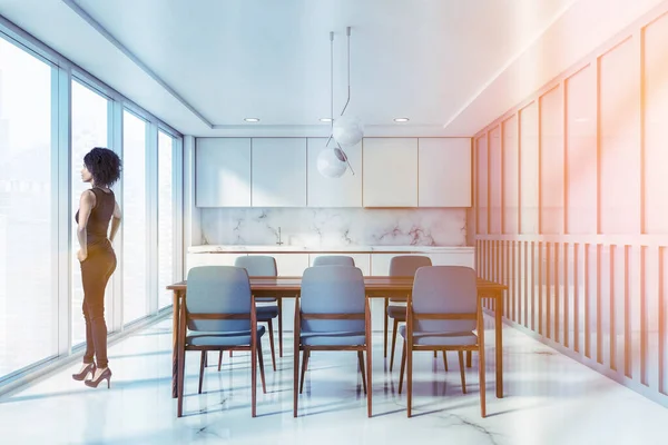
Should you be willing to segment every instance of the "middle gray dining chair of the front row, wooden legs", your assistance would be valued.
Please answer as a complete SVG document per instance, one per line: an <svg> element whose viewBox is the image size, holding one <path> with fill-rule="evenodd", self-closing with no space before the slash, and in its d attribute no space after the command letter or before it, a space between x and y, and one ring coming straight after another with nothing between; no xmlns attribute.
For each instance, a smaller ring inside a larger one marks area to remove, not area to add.
<svg viewBox="0 0 668 445"><path fill-rule="evenodd" d="M301 297L295 304L294 417L297 417L297 389L302 393L304 388L308 357L315 350L357 352L362 386L366 394L366 414L371 417L371 312L364 291L364 277L357 267L310 267L304 270ZM297 388L299 353L303 362Z"/></svg>

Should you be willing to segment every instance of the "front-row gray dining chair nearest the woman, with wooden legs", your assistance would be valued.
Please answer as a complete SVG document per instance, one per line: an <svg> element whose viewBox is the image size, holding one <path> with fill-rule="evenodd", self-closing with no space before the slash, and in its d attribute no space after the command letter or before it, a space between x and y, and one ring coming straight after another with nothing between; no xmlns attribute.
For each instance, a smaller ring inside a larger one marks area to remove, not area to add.
<svg viewBox="0 0 668 445"><path fill-rule="evenodd" d="M180 306L177 335L177 416L184 406L186 352L202 352L199 364L199 394L209 350L250 352L250 413L256 415L257 360L262 389L266 393L262 336L264 326L257 326L255 305L248 274L240 267L200 266L188 271L188 295Z"/></svg>

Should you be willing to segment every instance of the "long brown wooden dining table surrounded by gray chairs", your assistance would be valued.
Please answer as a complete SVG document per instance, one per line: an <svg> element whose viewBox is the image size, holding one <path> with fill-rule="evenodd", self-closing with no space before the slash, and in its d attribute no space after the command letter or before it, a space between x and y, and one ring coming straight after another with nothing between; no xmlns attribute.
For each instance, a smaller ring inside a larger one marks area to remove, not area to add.
<svg viewBox="0 0 668 445"><path fill-rule="evenodd" d="M254 297L298 298L302 289L302 277L249 277L250 293ZM491 315L494 317L494 348L497 373L497 397L503 397L503 338L502 314L503 291L508 287L503 284L478 278L478 310L485 309L484 301L492 300ZM406 297L413 290L413 277L365 276L364 288L367 298ZM177 326L179 322L180 305L187 298L187 280L167 286L174 294L173 306L173 352L171 352L171 397L177 396L178 383L178 354L177 354Z"/></svg>

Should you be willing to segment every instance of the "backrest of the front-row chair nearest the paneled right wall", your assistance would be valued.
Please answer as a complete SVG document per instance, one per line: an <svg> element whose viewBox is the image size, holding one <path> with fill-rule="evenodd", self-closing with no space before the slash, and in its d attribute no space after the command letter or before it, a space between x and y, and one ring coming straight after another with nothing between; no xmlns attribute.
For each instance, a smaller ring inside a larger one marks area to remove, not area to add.
<svg viewBox="0 0 668 445"><path fill-rule="evenodd" d="M421 267L415 273L411 297L413 314L475 314L475 270L464 266ZM475 319L418 319L414 332L455 333L475 329Z"/></svg>

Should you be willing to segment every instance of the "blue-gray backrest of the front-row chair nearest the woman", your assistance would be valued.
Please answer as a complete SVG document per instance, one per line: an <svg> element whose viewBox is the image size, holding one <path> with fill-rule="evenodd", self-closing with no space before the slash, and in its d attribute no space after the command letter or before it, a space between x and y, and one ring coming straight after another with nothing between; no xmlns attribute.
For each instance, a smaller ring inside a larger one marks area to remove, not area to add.
<svg viewBox="0 0 668 445"><path fill-rule="evenodd" d="M246 269L234 266L199 266L188 271L186 319L190 330L235 332L250 329L250 281ZM247 319L191 319L189 315L239 314Z"/></svg>

